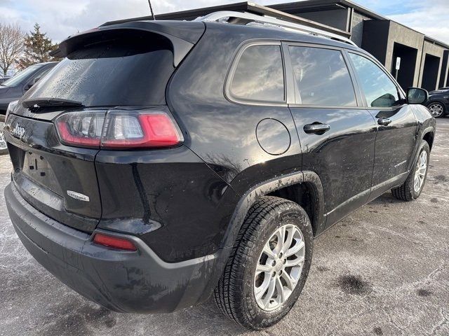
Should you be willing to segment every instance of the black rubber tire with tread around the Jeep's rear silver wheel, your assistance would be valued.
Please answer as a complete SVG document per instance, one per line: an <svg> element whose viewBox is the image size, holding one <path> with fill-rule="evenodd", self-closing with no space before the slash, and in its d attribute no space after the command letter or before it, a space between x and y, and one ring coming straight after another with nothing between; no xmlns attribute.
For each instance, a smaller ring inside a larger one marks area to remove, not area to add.
<svg viewBox="0 0 449 336"><path fill-rule="evenodd" d="M259 307L254 294L255 267L264 244L281 226L293 224L304 237L300 278L283 304L271 311ZM299 297L311 265L313 232L309 216L298 204L279 197L261 197L250 208L236 239L225 272L215 288L215 302L229 318L245 328L260 330L278 323Z"/></svg>

